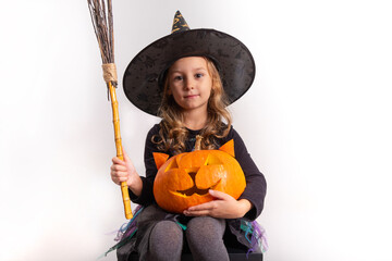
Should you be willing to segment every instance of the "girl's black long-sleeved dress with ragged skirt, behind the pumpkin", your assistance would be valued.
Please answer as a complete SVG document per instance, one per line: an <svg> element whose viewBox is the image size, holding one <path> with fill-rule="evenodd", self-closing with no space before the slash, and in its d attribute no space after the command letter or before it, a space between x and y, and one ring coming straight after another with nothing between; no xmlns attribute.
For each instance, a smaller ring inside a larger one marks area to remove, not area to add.
<svg viewBox="0 0 392 261"><path fill-rule="evenodd" d="M162 151L160 151L157 148L157 145L151 141L151 138L155 135L158 135L159 129L160 129L159 124L154 125L154 127L148 132L146 138L146 146L145 146L146 176L145 177L142 176L142 181L143 181L142 194L139 197L137 197L130 190L131 200L134 203L143 206L145 208L150 204L156 206L156 201L152 192L152 186L158 170L155 164L152 152L162 152ZM188 129L188 138L185 142L186 151L193 150L195 146L196 135L198 135L199 133L200 130ZM260 251L260 249L257 246L253 245L252 240L249 240L249 235L247 235L247 232L249 229L254 231L255 227L252 226L254 226L255 222L253 221L255 221L262 211L267 184L265 176L261 174L261 172L256 166L255 162L252 160L250 154L248 153L244 141L242 140L242 138L233 127L231 127L226 137L217 139L216 144L219 148L220 146L224 145L231 139L234 140L235 159L238 161L241 167L243 169L246 179L246 188L244 192L241 195L240 199L249 200L253 203L254 208L249 210L242 219L226 220L228 227L223 239L228 248L243 248L246 250L253 248L253 251L257 252ZM168 153L170 157L173 156L173 153L170 151L164 151L164 153ZM147 249L144 249L144 247L140 246L146 245L146 243L148 241L148 238L146 238L146 236L149 235L151 228L159 221L169 219L179 222L181 224L184 223L186 224L187 220L192 219L182 214L167 213L163 210L159 210L159 207L157 210L158 210L157 213L154 213L152 215L151 213L149 213L148 217L143 216L143 211L142 211L142 214L139 215L140 217L136 220L136 226L138 227L137 233L131 240L127 240L125 245L123 245L118 249L119 260L127 260L128 254L133 251L136 251L136 249L138 249L139 254L140 251L143 254L143 251L146 251Z"/></svg>

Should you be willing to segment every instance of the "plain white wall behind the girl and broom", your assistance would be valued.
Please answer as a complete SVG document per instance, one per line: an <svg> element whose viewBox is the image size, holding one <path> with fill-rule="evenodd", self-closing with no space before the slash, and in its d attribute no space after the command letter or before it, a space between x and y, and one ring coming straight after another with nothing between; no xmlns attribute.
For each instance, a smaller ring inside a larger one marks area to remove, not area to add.
<svg viewBox="0 0 392 261"><path fill-rule="evenodd" d="M111 109L86 1L2 1L0 260L95 260L125 219L109 177ZM253 51L234 126L268 181L269 261L392 260L392 35L388 0L114 1L119 77L146 45L191 27ZM118 89L140 173L158 120ZM115 260L111 253L106 260Z"/></svg>

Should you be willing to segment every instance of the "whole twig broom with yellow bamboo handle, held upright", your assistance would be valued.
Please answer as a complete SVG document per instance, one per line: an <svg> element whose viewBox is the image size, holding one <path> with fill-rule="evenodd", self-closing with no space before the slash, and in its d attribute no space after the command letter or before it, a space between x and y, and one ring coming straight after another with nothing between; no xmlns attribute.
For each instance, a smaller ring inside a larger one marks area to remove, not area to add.
<svg viewBox="0 0 392 261"><path fill-rule="evenodd" d="M107 4L105 4L105 0L87 0L94 30L97 36L99 50L102 58L103 79L107 83L110 94L113 112L117 157L121 160L124 160L124 157L122 154L122 144L120 135L119 103L115 96L115 87L118 85L118 79L114 64L112 5L111 0L107 0ZM126 182L121 183L121 192L124 203L125 217L130 220L132 219L133 214L131 210L131 200Z"/></svg>

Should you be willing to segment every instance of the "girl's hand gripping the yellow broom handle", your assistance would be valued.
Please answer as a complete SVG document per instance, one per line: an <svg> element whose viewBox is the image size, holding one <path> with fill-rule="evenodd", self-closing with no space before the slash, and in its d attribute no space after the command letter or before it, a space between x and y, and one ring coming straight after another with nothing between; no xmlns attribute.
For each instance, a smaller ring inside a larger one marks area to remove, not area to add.
<svg viewBox="0 0 392 261"><path fill-rule="evenodd" d="M124 160L120 160L118 157L112 159L113 164L110 166L110 175L112 181L120 185L122 182L126 182L130 189L139 196L143 188L143 183L139 175L136 172L134 164L130 157L123 150Z"/></svg>

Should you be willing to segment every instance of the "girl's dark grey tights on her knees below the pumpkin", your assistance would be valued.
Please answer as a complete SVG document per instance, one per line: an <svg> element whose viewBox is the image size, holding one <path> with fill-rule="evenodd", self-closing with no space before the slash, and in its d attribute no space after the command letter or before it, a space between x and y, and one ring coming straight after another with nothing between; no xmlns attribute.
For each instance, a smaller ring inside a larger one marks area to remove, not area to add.
<svg viewBox="0 0 392 261"><path fill-rule="evenodd" d="M194 260L229 260L223 244L225 220L210 216L192 219L185 231L186 241ZM172 221L161 221L149 237L147 260L180 261L183 248L183 231Z"/></svg>

